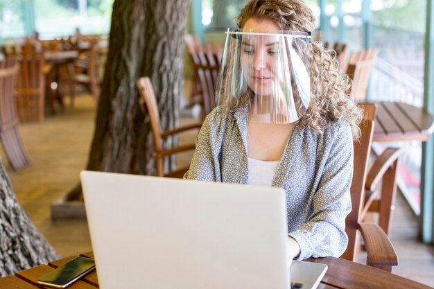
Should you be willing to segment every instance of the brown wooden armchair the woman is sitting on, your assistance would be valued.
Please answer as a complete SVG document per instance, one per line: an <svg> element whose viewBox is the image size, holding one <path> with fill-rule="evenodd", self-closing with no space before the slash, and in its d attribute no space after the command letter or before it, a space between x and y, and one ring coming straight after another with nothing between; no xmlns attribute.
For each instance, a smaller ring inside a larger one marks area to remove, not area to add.
<svg viewBox="0 0 434 289"><path fill-rule="evenodd" d="M360 238L362 237L367 252L367 265L391 272L392 266L398 264L398 257L388 236L376 223L362 220L367 163L374 132L376 107L374 104L361 104L361 107L365 112L365 117L360 125L361 139L354 142L354 173L350 189L352 210L345 222L345 231L349 241L347 250L341 258L358 261Z"/></svg>

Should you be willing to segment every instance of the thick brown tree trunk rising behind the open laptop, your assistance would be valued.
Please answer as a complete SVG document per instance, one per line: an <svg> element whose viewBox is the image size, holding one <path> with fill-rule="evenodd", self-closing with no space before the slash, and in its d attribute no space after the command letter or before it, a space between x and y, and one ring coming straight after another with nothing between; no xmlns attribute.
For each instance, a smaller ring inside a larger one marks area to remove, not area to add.
<svg viewBox="0 0 434 289"><path fill-rule="evenodd" d="M88 170L155 175L148 116L137 78L153 82L163 130L179 123L183 91L186 0L115 0ZM176 139L169 139L171 147ZM168 161L166 166L174 166Z"/></svg>

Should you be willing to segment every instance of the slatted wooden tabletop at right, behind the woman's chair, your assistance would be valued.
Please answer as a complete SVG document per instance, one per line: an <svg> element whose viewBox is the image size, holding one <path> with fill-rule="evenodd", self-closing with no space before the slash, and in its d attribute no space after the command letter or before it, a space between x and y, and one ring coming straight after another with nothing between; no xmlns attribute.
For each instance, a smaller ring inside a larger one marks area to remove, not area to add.
<svg viewBox="0 0 434 289"><path fill-rule="evenodd" d="M434 131L434 117L423 107L399 102L375 103L372 141L427 141Z"/></svg>

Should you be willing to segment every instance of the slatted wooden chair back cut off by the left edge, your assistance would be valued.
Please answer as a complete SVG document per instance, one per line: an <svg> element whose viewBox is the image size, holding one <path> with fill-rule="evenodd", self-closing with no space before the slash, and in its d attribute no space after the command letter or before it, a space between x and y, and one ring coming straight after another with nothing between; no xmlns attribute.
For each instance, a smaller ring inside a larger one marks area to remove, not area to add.
<svg viewBox="0 0 434 289"><path fill-rule="evenodd" d="M17 58L6 58L0 62L0 140L14 170L30 164L18 130L19 119L14 100L15 76L18 70Z"/></svg>

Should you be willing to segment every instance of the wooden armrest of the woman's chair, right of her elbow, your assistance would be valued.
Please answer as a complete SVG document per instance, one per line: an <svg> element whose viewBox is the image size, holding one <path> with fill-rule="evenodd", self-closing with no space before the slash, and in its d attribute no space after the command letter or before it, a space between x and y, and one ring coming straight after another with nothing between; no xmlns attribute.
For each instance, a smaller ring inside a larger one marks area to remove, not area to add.
<svg viewBox="0 0 434 289"><path fill-rule="evenodd" d="M373 222L361 222L358 229L365 242L366 265L392 272L392 266L398 265L398 256L383 229Z"/></svg>

